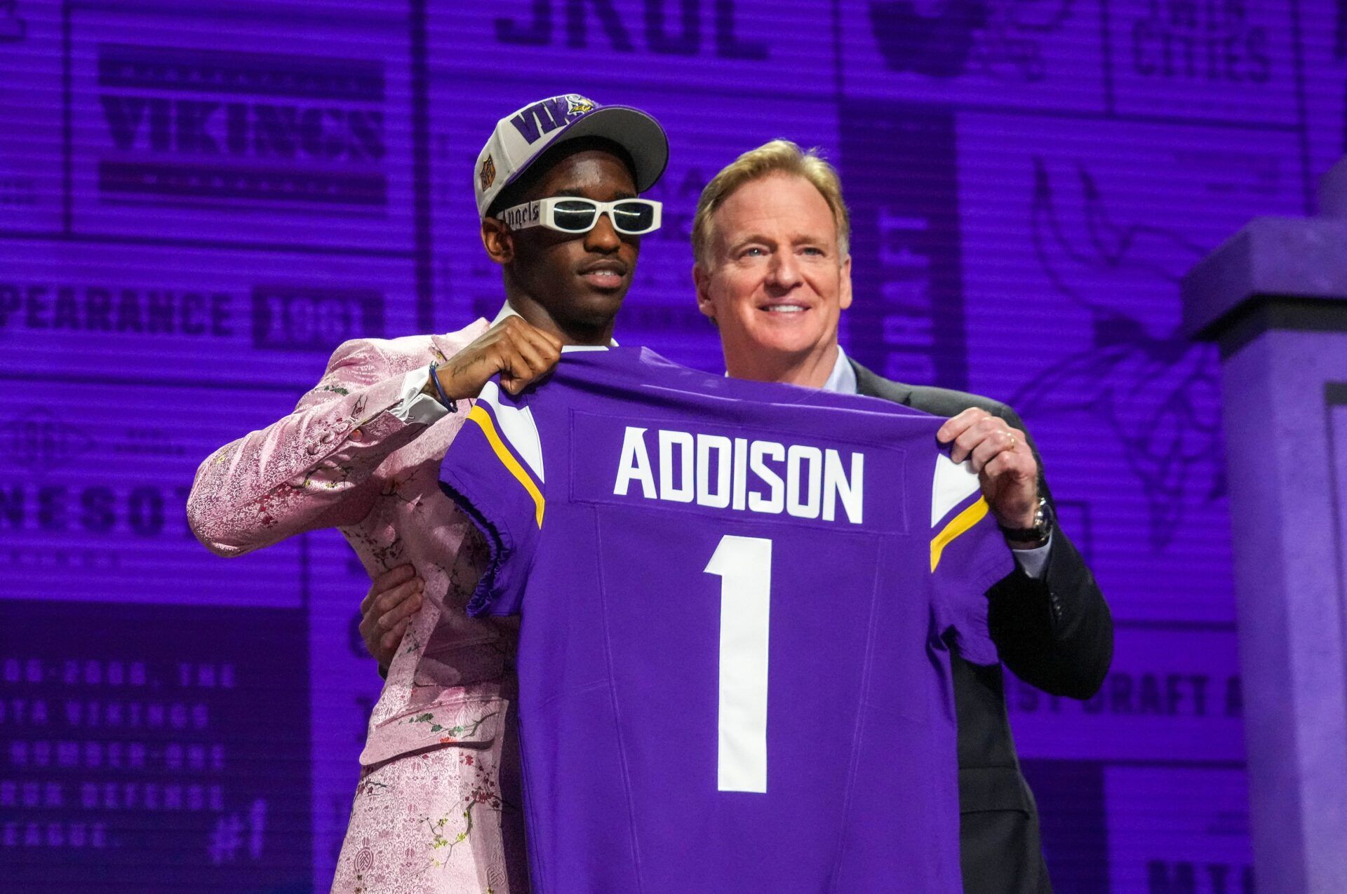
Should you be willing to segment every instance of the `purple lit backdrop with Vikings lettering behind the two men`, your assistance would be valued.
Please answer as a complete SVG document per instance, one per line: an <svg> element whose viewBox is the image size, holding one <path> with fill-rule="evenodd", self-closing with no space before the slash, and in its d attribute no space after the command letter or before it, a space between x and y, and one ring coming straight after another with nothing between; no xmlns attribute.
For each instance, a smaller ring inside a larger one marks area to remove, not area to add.
<svg viewBox="0 0 1347 894"><path fill-rule="evenodd" d="M692 366L702 184L776 136L838 162L845 343L1022 411L1118 619L1095 699L1008 691L1057 889L1251 890L1218 370L1177 279L1312 210L1340 0L0 0L5 878L326 890L368 582L331 532L225 564L183 497L342 339L494 314L471 162L564 92L669 131L618 338Z"/></svg>

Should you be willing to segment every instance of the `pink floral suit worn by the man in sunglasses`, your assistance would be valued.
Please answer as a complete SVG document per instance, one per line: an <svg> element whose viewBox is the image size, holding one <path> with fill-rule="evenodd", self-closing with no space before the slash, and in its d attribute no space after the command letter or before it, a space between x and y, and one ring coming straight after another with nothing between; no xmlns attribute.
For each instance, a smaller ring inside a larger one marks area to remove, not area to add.
<svg viewBox="0 0 1347 894"><path fill-rule="evenodd" d="M206 458L187 501L197 537L222 556L339 528L370 576L411 563L426 582L369 718L334 891L527 887L504 723L517 627L465 614L481 547L439 489L467 401L430 425L389 412L408 370L486 329L343 343L294 413Z"/></svg>

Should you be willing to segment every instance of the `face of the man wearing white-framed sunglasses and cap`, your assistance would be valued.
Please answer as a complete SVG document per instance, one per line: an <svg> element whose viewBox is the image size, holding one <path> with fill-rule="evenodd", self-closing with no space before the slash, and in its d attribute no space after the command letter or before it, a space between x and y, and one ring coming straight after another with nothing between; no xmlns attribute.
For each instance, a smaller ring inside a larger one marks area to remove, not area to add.
<svg viewBox="0 0 1347 894"><path fill-rule="evenodd" d="M581 148L550 164L519 201L566 195L599 202L636 198L636 183L614 152ZM603 214L581 234L541 226L511 232L486 218L482 241L505 268L505 292L524 319L570 343L607 343L613 318L632 287L638 236L618 233Z"/></svg>

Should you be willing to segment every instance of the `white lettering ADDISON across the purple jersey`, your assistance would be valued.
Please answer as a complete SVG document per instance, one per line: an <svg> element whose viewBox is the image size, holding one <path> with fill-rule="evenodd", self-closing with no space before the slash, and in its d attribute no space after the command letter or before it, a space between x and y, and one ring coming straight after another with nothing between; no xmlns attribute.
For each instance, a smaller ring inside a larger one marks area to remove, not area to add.
<svg viewBox="0 0 1347 894"><path fill-rule="evenodd" d="M865 454L628 425L613 494L859 525Z"/></svg>

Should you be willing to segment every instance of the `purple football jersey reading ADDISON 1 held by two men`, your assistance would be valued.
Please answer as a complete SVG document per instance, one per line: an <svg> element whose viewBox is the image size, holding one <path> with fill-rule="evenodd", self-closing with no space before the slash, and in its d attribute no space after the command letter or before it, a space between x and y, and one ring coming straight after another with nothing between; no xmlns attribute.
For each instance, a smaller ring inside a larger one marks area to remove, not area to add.
<svg viewBox="0 0 1347 894"><path fill-rule="evenodd" d="M940 423L644 349L488 385L440 477L523 615L535 891L960 890L950 649L1013 560Z"/></svg>

